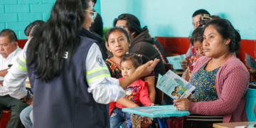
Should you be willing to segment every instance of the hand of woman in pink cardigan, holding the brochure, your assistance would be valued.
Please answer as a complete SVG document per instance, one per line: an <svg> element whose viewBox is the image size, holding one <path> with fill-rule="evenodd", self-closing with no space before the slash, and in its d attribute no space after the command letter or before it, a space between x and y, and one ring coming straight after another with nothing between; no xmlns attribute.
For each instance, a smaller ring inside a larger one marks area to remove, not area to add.
<svg viewBox="0 0 256 128"><path fill-rule="evenodd" d="M189 102L188 98L176 99L174 100L174 107L176 106L177 110L188 111Z"/></svg>

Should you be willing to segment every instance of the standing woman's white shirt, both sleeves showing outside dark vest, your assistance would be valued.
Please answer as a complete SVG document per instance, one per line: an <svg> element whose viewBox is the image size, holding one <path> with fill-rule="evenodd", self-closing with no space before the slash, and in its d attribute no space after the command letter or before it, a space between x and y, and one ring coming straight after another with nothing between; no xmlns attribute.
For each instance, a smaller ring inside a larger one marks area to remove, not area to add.
<svg viewBox="0 0 256 128"><path fill-rule="evenodd" d="M27 92L23 89L25 87L24 81L28 77L26 72L26 43L21 54L19 55L18 63L15 63L9 73L4 78L4 88L9 92L11 97L21 99L26 96ZM25 61L24 61L25 60ZM23 65L21 63L25 63ZM89 52L87 53L85 68L87 71L88 92L92 93L95 102L101 104L108 104L115 102L125 96L122 87L119 86L119 80L110 77L109 71L106 69L107 65L102 59L100 47L93 43ZM107 70L107 72L106 72Z"/></svg>

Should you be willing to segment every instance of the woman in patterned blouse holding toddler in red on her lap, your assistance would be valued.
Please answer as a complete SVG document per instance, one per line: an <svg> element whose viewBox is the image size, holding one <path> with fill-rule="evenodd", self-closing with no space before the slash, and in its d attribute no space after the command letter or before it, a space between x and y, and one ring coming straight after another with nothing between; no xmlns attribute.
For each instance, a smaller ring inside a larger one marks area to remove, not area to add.
<svg viewBox="0 0 256 128"><path fill-rule="evenodd" d="M113 57L105 60L107 67L110 70L110 75L112 78L122 78L122 68L120 66L121 59L123 55L129 52L129 36L127 31L124 28L114 27L110 28L106 32L106 41L107 41L107 49L112 52ZM142 58L142 63L146 63L149 61L149 58L146 58L144 55L139 55ZM149 100L154 103L155 98L155 89L154 89L154 72L142 78L142 80L149 83L148 85L148 93ZM117 103L123 105L124 107L139 107L134 102L128 100L126 97L123 97L117 100ZM110 103L110 115L112 110L114 109L115 102ZM151 124L151 120L148 118L149 122L142 122L143 125Z"/></svg>

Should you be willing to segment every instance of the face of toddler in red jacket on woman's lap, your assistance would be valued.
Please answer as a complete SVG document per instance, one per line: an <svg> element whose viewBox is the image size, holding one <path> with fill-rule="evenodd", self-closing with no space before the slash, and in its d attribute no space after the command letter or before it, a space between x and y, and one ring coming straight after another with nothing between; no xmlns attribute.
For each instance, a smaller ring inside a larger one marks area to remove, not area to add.
<svg viewBox="0 0 256 128"><path fill-rule="evenodd" d="M134 65L131 60L126 60L121 63L121 68L122 68L122 77L127 78L129 75L132 75L134 73Z"/></svg>

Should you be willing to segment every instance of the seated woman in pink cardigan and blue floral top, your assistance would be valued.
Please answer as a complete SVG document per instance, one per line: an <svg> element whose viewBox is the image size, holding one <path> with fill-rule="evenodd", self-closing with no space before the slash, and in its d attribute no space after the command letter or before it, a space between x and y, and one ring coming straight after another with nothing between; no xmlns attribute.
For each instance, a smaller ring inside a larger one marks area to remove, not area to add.
<svg viewBox="0 0 256 128"><path fill-rule="evenodd" d="M230 21L218 18L203 28L203 50L193 68L191 84L196 90L187 98L174 100L177 110L195 114L223 115L223 122L246 122L245 92L249 73L232 55L240 49L241 37Z"/></svg>

